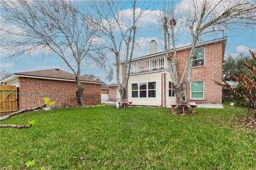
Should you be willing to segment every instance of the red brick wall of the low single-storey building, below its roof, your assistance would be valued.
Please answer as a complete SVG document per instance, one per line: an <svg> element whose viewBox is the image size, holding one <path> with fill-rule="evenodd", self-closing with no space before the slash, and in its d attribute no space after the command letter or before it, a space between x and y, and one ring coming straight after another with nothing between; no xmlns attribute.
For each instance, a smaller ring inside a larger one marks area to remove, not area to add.
<svg viewBox="0 0 256 170"><path fill-rule="evenodd" d="M101 98L101 85L92 83L84 84L84 104L99 104ZM67 95L76 96L76 84L70 81L19 78L20 93L30 94L52 94L52 95ZM50 97L52 101L56 101L55 106L65 106L70 104L77 106L77 98L61 97L61 96L39 96L41 104L43 97ZM37 95L20 95L20 109L28 107L36 107L39 105ZM53 105L54 106L54 105Z"/></svg>

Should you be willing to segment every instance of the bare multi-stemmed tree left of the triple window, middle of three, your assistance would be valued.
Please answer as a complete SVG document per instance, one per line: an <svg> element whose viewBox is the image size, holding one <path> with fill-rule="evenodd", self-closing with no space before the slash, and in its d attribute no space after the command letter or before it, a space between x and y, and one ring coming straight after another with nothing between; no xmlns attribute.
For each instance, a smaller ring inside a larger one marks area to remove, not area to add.
<svg viewBox="0 0 256 170"><path fill-rule="evenodd" d="M140 19L145 15L143 10L136 11L137 1L130 1L132 6L131 24L124 21L123 11L120 2L104 1L92 3L94 15L91 20L101 31L104 42L104 48L108 49L115 56L116 62L116 79L121 101L127 101L127 84L130 77L131 60L135 45L135 35L139 29ZM142 7L146 3L143 3ZM142 8L141 7L141 8ZM127 19L126 19L127 20ZM120 70L120 62L124 60L124 69ZM120 80L122 75L122 80Z"/></svg>

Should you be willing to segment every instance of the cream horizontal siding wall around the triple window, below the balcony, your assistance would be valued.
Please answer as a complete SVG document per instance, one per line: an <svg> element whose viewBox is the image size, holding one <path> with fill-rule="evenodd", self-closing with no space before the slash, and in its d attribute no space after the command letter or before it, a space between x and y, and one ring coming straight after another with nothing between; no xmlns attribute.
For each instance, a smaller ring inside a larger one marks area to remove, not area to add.
<svg viewBox="0 0 256 170"><path fill-rule="evenodd" d="M133 105L161 106L161 76L162 72L130 75L128 83L128 98ZM155 98L132 98L132 83L156 82Z"/></svg>

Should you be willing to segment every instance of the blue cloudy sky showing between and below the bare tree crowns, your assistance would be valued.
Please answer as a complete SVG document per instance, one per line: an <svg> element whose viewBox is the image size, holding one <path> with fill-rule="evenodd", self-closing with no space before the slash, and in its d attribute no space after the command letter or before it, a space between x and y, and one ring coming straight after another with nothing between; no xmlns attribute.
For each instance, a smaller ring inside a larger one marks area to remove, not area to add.
<svg viewBox="0 0 256 170"><path fill-rule="evenodd" d="M85 2L79 2L81 5L84 5ZM139 2L140 5L141 2ZM180 3L176 1L175 3ZM128 2L124 2L125 8L127 10L129 6ZM145 19L142 22L141 28L136 35L136 40L140 44L140 47L135 47L133 57L139 57L142 55L149 54L149 42L151 39L155 39L158 43L158 52L163 49L163 41L161 39L161 34L157 29L158 24L156 20L155 10L161 10L161 5L158 2L150 3L148 8L149 14L145 16ZM235 31L226 31L225 36L228 37L225 56L228 54L237 55L243 53L248 55L248 49L256 49L256 33L255 30L237 28ZM221 38L220 35L218 38ZM1 68L7 72L26 72L26 71L35 71L35 70L44 70L44 69L54 69L58 68L64 71L70 72L68 66L61 60L57 55L52 54L50 57L43 57L42 52L34 53L31 56L19 56L16 58L6 58L6 56L1 53ZM110 57L109 61L114 61L114 57ZM113 67L114 68L114 67ZM101 69L93 66L92 64L83 64L82 65L82 74L93 74L97 77L100 77L102 81L105 81L107 84L115 82L115 75L112 81L105 79L106 73Z"/></svg>

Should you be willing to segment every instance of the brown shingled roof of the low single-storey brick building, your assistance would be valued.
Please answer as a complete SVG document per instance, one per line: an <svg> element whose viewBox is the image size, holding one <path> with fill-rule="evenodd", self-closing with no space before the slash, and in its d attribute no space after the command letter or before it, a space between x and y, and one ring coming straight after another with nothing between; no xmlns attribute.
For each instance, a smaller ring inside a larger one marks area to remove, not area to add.
<svg viewBox="0 0 256 170"><path fill-rule="evenodd" d="M75 81L75 74L62 71L59 69L48 69L48 70L39 70L39 71L31 71L31 72L14 73L9 77L1 80L1 82L10 82L17 79L18 77ZM100 84L103 83L101 80L94 80L86 76L80 76L79 78L82 82L89 82L89 83L91 82L91 83L100 83Z"/></svg>

